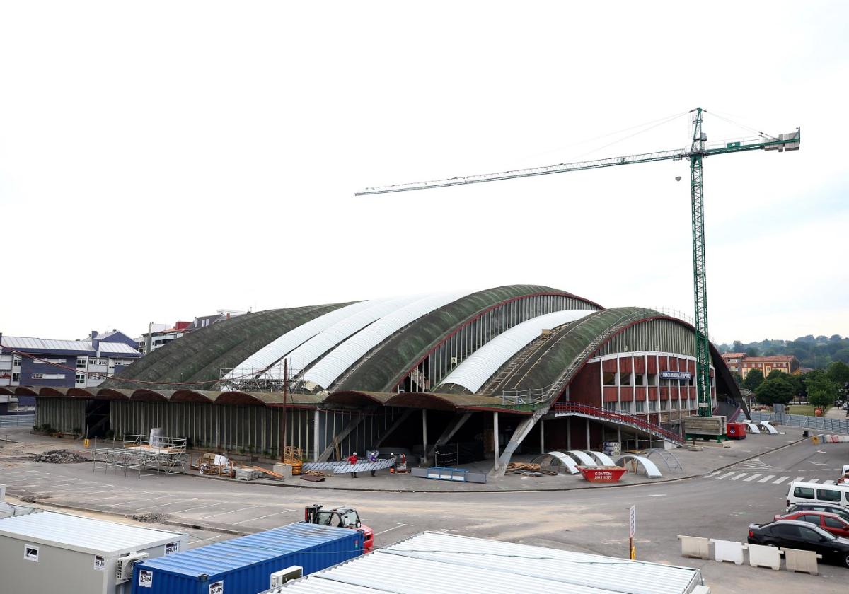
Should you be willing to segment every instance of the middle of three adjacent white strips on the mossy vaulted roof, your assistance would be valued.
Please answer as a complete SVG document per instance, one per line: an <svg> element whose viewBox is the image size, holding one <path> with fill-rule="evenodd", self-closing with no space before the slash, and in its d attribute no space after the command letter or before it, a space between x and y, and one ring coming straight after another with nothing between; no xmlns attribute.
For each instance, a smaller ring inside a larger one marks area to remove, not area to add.
<svg viewBox="0 0 849 594"><path fill-rule="evenodd" d="M295 377L295 375L301 373L304 369L312 365L312 363L318 361L324 353L335 347L335 345L339 345L343 340L359 332L368 326L368 324L419 299L421 299L421 295L408 295L396 299L369 301L368 303L372 304L370 307L357 311L352 316L336 322L329 328L325 328L313 336L312 339L307 340L303 345L291 351L286 356L289 359L290 376ZM283 373L283 366L275 365L266 373L263 373L261 377L266 379L283 379Z"/></svg>

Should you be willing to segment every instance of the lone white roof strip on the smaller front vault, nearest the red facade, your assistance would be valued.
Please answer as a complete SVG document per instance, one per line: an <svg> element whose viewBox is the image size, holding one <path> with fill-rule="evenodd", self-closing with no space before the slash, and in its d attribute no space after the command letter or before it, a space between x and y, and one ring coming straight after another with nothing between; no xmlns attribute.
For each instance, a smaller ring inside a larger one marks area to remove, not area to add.
<svg viewBox="0 0 849 594"><path fill-rule="evenodd" d="M454 368L453 372L440 382L440 385L458 384L475 393L481 389L483 384L486 384L486 380L492 378L498 372L498 369L504 363L524 349L531 340L539 338L543 330L575 322L575 320L579 320L589 313L592 313L592 311L554 311L517 324L513 328L498 334L486 345L481 346L480 349L466 357L462 363Z"/></svg>

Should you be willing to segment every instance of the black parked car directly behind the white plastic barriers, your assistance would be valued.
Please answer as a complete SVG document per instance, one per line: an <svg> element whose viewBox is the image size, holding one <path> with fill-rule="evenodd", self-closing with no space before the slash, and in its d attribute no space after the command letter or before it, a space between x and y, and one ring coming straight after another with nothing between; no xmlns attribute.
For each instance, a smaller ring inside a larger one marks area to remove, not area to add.
<svg viewBox="0 0 849 594"><path fill-rule="evenodd" d="M819 526L798 520L778 520L749 524L749 544L814 551L825 563L849 568L849 539L826 532Z"/></svg>

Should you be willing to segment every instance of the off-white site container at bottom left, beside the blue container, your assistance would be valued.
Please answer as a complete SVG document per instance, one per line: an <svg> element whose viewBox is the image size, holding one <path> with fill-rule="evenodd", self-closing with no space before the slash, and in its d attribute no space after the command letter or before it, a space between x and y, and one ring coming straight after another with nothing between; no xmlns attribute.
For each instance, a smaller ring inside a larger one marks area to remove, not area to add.
<svg viewBox="0 0 849 594"><path fill-rule="evenodd" d="M128 557L140 553L156 558L184 551L187 546L188 535L178 532L66 513L0 518L0 590L14 594L129 594L131 582L116 576L122 566L127 577L132 577Z"/></svg>

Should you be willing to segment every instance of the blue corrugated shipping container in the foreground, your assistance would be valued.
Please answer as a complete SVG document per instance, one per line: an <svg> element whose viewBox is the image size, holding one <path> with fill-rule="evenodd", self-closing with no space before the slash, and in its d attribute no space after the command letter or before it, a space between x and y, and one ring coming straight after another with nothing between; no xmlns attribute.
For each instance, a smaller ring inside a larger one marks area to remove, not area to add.
<svg viewBox="0 0 849 594"><path fill-rule="evenodd" d="M306 575L361 554L358 530L300 522L136 563L132 594L256 594L290 565Z"/></svg>

